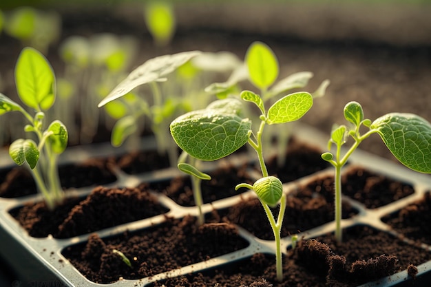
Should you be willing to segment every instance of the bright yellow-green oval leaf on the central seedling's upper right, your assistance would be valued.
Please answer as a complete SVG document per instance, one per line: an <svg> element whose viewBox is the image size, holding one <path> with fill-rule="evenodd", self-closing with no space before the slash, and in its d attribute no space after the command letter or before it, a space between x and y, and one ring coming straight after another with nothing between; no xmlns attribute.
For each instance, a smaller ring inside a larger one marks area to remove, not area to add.
<svg viewBox="0 0 431 287"><path fill-rule="evenodd" d="M307 92L289 94L277 100L268 110L269 125L288 123L302 118L313 106L313 96Z"/></svg>

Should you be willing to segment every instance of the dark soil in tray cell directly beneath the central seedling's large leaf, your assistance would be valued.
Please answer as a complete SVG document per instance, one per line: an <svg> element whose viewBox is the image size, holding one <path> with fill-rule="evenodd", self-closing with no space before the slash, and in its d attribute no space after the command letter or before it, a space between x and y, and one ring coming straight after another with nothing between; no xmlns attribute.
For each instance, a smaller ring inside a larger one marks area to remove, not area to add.
<svg viewBox="0 0 431 287"><path fill-rule="evenodd" d="M243 164L239 167L227 164L211 171L209 173L211 180L202 180L201 182L203 202L213 202L245 192L246 189L235 191L235 186L242 182L249 184L255 182L255 179L248 172L248 168L248 164ZM182 206L195 205L189 176L176 177L167 181L151 182L150 187L164 193L177 204Z"/></svg>

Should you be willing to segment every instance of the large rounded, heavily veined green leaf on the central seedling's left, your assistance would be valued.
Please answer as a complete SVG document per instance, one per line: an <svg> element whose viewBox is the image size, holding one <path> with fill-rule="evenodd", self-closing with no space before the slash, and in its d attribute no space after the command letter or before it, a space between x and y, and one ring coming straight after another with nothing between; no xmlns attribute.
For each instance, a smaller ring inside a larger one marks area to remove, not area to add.
<svg viewBox="0 0 431 287"><path fill-rule="evenodd" d="M171 125L171 135L177 145L200 160L224 158L249 139L251 121L239 116L239 100L217 100L198 111L184 114Z"/></svg>

